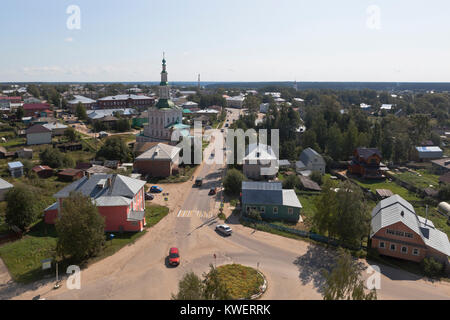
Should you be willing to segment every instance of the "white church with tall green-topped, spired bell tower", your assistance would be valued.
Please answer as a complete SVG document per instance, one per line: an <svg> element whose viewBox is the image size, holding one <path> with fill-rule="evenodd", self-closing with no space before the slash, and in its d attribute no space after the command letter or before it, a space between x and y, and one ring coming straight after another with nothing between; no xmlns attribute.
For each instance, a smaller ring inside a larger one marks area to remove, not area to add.
<svg viewBox="0 0 450 320"><path fill-rule="evenodd" d="M178 137L189 135L189 126L182 123L183 111L170 100L170 87L166 70L166 59L162 60L161 83L159 84L159 100L155 106L148 109L148 124L144 126L143 134L137 136L136 142L172 142L172 133Z"/></svg>

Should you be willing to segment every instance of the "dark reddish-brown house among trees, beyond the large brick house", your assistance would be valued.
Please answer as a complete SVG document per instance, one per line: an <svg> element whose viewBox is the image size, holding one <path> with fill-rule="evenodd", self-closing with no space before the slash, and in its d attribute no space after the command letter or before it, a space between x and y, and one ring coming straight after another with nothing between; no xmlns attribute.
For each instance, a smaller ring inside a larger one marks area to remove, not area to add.
<svg viewBox="0 0 450 320"><path fill-rule="evenodd" d="M383 178L381 152L375 148L357 148L348 165L348 172L367 179Z"/></svg>

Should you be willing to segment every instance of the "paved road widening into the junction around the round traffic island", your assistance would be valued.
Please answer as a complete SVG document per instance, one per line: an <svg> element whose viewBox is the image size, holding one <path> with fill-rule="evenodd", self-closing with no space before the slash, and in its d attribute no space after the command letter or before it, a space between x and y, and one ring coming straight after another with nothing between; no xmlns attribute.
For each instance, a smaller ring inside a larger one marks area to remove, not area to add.
<svg viewBox="0 0 450 320"><path fill-rule="evenodd" d="M206 151L207 153L209 151ZM40 294L47 299L170 299L177 291L179 279L189 271L200 275L211 263L241 263L266 275L269 287L263 299L321 299L324 283L322 268L330 268L334 251L304 241L269 233L255 232L231 217L231 237L214 231L218 221L217 201L208 196L210 186L220 184L221 165L203 164L199 176L205 177L202 188L186 184L181 210L174 210L134 245L90 266L82 272L82 289L58 291L51 285L17 288L0 298L31 299ZM219 195L220 196L220 195ZM186 212L190 214L186 215ZM166 262L170 247L180 248L182 263L170 268ZM214 260L213 255L217 259ZM407 272L382 267L382 299L449 299L450 284L431 283Z"/></svg>

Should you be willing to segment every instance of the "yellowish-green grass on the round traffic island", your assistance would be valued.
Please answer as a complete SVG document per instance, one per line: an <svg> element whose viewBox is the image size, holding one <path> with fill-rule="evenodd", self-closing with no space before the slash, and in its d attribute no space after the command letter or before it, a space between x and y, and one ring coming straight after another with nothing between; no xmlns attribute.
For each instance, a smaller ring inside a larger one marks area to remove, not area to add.
<svg viewBox="0 0 450 320"><path fill-rule="evenodd" d="M223 265L217 271L234 300L250 298L264 284L264 278L255 269L240 264Z"/></svg>

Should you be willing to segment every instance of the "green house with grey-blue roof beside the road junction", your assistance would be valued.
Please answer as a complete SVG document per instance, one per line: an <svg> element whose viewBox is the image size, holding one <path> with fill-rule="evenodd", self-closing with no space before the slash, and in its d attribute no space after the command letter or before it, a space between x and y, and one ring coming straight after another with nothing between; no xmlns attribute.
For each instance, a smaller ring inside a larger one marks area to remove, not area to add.
<svg viewBox="0 0 450 320"><path fill-rule="evenodd" d="M242 213L259 211L264 220L297 222L302 205L295 190L283 190L281 182L242 182Z"/></svg>

